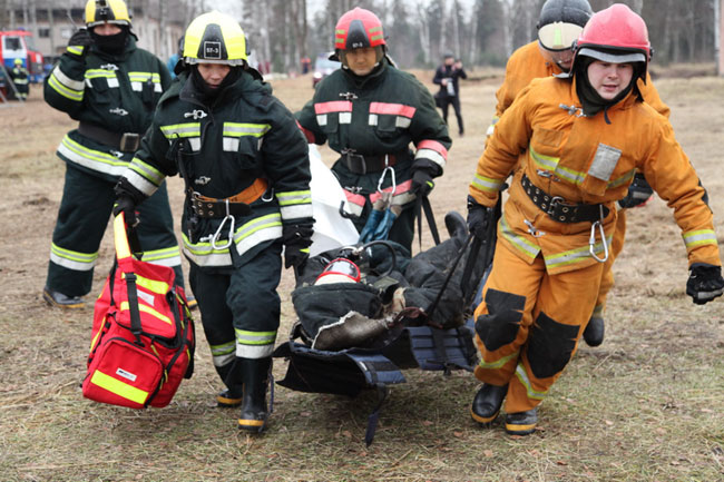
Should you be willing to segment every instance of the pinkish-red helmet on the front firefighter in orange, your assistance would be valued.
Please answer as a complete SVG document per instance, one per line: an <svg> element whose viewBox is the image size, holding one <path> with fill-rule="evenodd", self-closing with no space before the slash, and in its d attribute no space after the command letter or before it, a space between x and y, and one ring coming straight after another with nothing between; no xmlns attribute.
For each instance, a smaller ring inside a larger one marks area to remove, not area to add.
<svg viewBox="0 0 724 482"><path fill-rule="evenodd" d="M644 19L627 6L614 3L588 20L575 51L576 58L587 56L614 63L647 63L652 46Z"/></svg>

